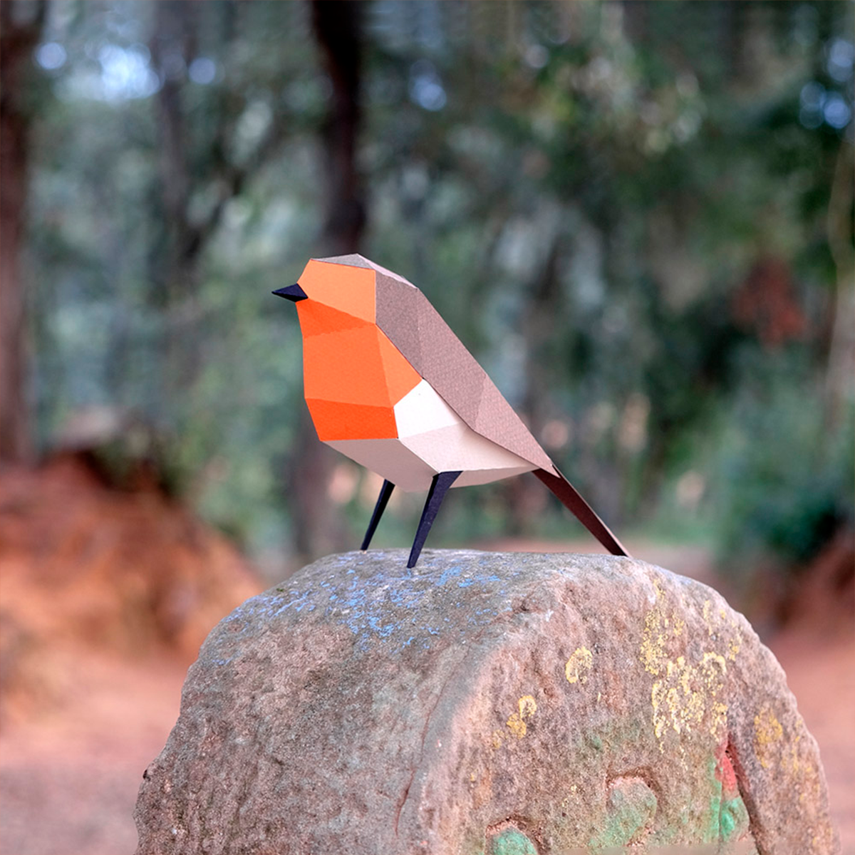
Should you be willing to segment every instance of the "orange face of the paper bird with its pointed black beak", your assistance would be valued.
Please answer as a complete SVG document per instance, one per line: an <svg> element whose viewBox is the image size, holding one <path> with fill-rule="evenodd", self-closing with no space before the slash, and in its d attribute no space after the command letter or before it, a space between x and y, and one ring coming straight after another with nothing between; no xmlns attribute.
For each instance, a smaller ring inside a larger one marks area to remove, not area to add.
<svg viewBox="0 0 855 855"><path fill-rule="evenodd" d="M313 258L294 285L274 291L297 304L304 336L374 323L374 269Z"/></svg>

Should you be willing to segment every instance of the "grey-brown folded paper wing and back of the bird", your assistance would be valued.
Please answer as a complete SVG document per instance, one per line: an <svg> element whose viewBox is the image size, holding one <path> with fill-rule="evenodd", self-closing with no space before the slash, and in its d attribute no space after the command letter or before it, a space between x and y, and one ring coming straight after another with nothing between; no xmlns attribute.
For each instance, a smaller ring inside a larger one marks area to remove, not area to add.
<svg viewBox="0 0 855 855"><path fill-rule="evenodd" d="M549 473L551 460L486 371L416 286L379 265L376 320L413 368L475 433Z"/></svg>

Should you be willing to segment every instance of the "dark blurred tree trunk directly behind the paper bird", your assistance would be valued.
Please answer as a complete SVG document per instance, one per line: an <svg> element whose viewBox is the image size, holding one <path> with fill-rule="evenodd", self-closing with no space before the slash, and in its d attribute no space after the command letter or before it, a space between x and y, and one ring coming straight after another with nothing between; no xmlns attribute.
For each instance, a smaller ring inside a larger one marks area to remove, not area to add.
<svg viewBox="0 0 855 855"><path fill-rule="evenodd" d="M356 162L361 119L361 17L361 3L353 0L312 2L315 38L333 85L329 113L321 129L326 167L324 225L318 241L321 257L358 251L365 228L363 186ZM335 453L318 441L309 413L303 408L286 473L294 545L301 561L348 545L344 522L329 499L335 459Z"/></svg>

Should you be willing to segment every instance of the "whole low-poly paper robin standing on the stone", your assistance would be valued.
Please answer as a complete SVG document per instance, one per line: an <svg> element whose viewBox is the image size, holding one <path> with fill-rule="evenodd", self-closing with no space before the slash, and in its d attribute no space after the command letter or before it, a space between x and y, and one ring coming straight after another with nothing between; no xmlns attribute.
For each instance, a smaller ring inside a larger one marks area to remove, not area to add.
<svg viewBox="0 0 855 855"><path fill-rule="evenodd" d="M363 550L396 486L428 492L412 568L450 487L534 472L607 550L628 554L416 286L350 255L312 259L274 294L297 304L318 438L385 479Z"/></svg>

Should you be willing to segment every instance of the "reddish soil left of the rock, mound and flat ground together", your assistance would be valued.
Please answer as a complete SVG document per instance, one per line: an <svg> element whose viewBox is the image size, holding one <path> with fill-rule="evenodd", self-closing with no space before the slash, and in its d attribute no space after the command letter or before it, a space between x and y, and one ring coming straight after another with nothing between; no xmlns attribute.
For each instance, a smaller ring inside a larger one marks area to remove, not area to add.
<svg viewBox="0 0 855 855"><path fill-rule="evenodd" d="M0 477L0 851L133 852L143 770L210 628L259 583L152 484L80 457Z"/></svg>

